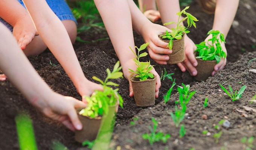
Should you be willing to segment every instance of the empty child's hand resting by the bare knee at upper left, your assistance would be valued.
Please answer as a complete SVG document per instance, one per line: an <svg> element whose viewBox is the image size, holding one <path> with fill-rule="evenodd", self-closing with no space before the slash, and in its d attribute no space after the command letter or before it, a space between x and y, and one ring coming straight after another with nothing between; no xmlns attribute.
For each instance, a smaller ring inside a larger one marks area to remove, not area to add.
<svg viewBox="0 0 256 150"><path fill-rule="evenodd" d="M12 34L18 41L18 45L22 50L26 48L26 46L34 39L35 36L38 35L37 30L34 27L34 24L29 17L29 15L25 15L14 24Z"/></svg>

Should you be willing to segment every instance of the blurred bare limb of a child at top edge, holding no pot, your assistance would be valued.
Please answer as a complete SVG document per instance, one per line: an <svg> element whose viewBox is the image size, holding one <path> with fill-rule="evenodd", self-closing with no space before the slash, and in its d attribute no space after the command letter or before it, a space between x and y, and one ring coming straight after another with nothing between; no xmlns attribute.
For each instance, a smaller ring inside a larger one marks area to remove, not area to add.
<svg viewBox="0 0 256 150"><path fill-rule="evenodd" d="M155 0L138 0L140 11L152 22L159 20L160 13L157 11Z"/></svg>

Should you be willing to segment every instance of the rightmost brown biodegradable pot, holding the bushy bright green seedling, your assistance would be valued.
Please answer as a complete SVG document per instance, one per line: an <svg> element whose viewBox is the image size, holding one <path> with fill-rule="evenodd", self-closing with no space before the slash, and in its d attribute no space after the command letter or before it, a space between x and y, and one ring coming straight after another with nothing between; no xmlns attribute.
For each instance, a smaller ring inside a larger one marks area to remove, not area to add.
<svg viewBox="0 0 256 150"><path fill-rule="evenodd" d="M197 75L194 77L197 81L206 81L214 70L216 65L216 60L202 60L196 58L198 65L195 67L197 69Z"/></svg>

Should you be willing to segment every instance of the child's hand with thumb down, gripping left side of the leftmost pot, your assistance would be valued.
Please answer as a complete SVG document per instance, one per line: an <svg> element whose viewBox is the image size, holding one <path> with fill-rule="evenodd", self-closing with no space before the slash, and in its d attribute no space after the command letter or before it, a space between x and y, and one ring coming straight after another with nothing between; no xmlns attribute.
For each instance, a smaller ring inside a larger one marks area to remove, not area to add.
<svg viewBox="0 0 256 150"><path fill-rule="evenodd" d="M72 131L82 129L82 124L78 119L75 109L85 108L86 105L83 102L55 92L47 93L46 95L46 99L32 99L32 105L37 107L47 117L60 121Z"/></svg>

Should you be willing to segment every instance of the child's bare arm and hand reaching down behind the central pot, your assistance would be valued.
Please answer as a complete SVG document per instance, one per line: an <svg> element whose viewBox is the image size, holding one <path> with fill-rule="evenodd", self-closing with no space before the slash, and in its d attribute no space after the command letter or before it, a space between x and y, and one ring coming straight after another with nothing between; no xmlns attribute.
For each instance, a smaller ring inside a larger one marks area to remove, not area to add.
<svg viewBox="0 0 256 150"><path fill-rule="evenodd" d="M123 66L124 77L130 83L130 96L133 96L133 90L129 78L130 73L128 68L136 70L136 65L133 62L133 58L135 58L135 56L133 52L129 49L129 46L131 46L131 48L135 50L129 4L127 0L94 0L94 2L99 10L99 13L101 14L102 20L108 31L108 35L110 36L117 57L119 58L120 63ZM158 92L161 84L160 77L157 72L155 72L155 70L153 70L152 73L154 75L157 75L155 96L158 97Z"/></svg>

